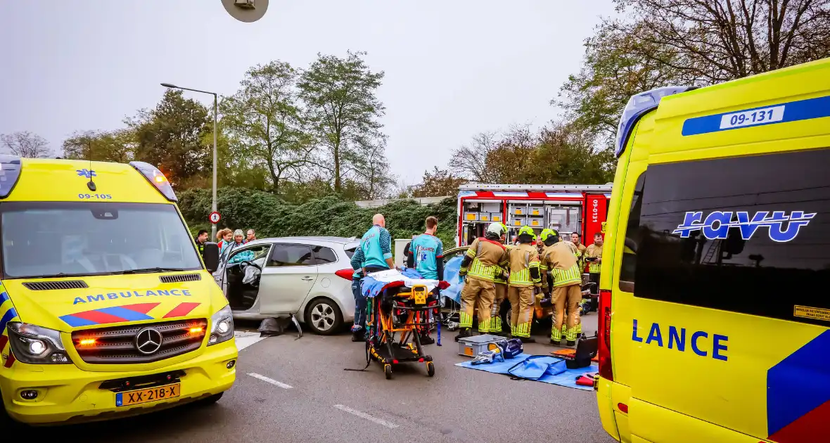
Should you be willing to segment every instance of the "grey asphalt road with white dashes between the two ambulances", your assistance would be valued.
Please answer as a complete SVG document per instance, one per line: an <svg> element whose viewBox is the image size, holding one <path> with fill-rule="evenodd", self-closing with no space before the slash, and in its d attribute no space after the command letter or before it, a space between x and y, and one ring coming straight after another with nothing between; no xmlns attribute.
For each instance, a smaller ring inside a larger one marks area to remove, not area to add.
<svg viewBox="0 0 830 443"><path fill-rule="evenodd" d="M583 317L596 329L596 314ZM248 325L250 326L250 325ZM253 335L253 334L250 334ZM435 377L422 364L399 365L393 380L348 334L295 333L255 341L239 356L237 382L217 404L78 426L36 428L61 441L613 441L603 431L593 391L458 368L454 333L428 346ZM540 336L540 341L544 336ZM242 343L246 340L237 341ZM547 340L544 340L545 342ZM529 344L528 353L549 353Z"/></svg>

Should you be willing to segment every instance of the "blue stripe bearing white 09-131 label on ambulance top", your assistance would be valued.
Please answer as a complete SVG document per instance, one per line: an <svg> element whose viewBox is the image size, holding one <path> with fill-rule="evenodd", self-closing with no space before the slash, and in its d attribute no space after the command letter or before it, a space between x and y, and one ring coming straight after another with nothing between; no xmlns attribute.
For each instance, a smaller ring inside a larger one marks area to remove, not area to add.
<svg viewBox="0 0 830 443"><path fill-rule="evenodd" d="M761 110L764 110L764 112L759 112ZM725 115L735 116L737 119L743 113L756 113L759 116L762 115L762 117L757 119L754 117L741 119L742 121L740 123L737 121L725 122L723 119ZM768 116L773 116L772 121L770 121ZM686 119L683 122L682 134L684 136L709 134L730 129L751 128L765 124L788 123L798 120L821 119L823 117L830 117L830 96Z"/></svg>

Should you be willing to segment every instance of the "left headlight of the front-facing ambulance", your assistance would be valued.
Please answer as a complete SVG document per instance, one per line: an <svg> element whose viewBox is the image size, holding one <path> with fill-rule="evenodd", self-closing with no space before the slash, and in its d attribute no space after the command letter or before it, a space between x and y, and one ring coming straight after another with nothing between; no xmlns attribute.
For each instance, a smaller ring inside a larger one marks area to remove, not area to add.
<svg viewBox="0 0 830 443"><path fill-rule="evenodd" d="M61 341L61 333L34 324L8 323L8 343L14 358L28 364L72 363Z"/></svg>

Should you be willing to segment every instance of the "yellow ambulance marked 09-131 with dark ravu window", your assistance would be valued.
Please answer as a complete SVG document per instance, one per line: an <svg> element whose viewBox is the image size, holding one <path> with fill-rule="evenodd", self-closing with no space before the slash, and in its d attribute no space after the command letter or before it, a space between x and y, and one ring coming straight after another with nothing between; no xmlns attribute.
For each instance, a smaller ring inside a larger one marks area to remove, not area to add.
<svg viewBox="0 0 830 443"><path fill-rule="evenodd" d="M618 441L830 441L830 59L635 95L599 299Z"/></svg>

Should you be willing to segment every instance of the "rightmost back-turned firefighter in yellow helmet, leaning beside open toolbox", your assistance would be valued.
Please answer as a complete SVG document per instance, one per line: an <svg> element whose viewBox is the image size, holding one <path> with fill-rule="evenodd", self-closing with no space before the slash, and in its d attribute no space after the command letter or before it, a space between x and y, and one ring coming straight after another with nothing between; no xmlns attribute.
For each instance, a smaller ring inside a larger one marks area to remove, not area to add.
<svg viewBox="0 0 830 443"><path fill-rule="evenodd" d="M558 236L548 236L548 241L558 240L550 237ZM559 345L564 333L568 346L574 346L577 335L582 332L582 324L579 321L582 272L577 263L578 254L574 253L573 243L570 241L555 241L545 252L544 265L553 277L554 286L554 327L550 331L550 343Z"/></svg>

